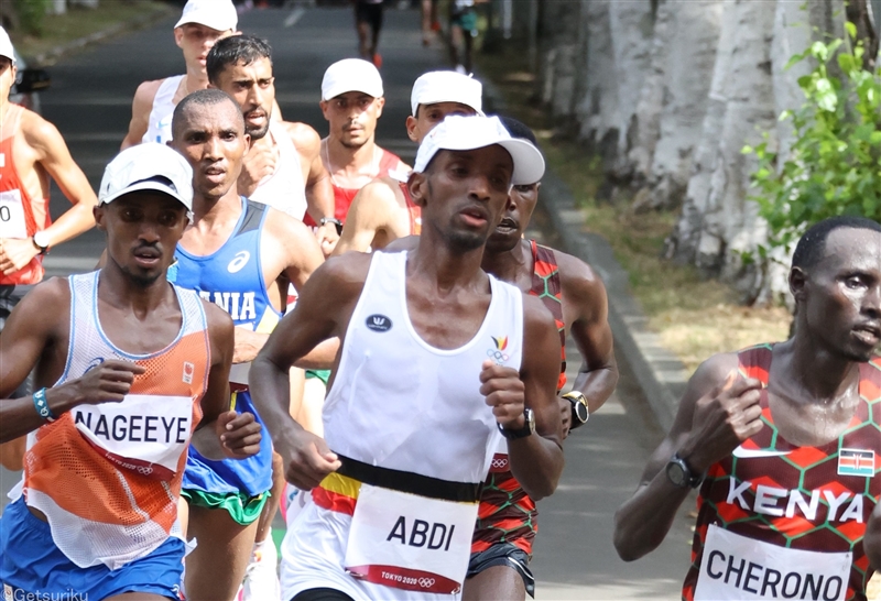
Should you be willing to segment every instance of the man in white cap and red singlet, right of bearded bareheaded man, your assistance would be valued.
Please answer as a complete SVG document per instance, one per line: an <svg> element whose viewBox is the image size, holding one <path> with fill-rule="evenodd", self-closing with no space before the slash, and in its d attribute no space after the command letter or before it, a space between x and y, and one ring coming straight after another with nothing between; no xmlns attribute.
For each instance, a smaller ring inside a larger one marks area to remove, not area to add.
<svg viewBox="0 0 881 601"><path fill-rule="evenodd" d="M374 177L410 167L376 143L377 121L385 105L377 67L359 58L334 63L322 80L322 112L329 133L322 140L322 160L334 184L335 217L346 222L355 195ZM314 226L308 218L307 226Z"/></svg>

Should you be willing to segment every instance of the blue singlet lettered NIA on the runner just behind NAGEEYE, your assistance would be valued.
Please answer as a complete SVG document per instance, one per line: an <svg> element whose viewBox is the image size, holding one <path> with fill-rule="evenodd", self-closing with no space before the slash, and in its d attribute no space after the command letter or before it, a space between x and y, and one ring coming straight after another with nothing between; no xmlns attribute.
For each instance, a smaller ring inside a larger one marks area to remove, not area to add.
<svg viewBox="0 0 881 601"><path fill-rule="evenodd" d="M265 205L242 197L242 211L229 239L216 252L195 255L180 245L170 278L183 288L196 291L226 310L238 327L270 332L282 317L269 298L260 261L260 237L267 217ZM216 494L247 493L257 496L272 488L272 442L242 386L233 385L230 406L249 412L262 426L260 452L248 459L211 461L189 447L183 488Z"/></svg>

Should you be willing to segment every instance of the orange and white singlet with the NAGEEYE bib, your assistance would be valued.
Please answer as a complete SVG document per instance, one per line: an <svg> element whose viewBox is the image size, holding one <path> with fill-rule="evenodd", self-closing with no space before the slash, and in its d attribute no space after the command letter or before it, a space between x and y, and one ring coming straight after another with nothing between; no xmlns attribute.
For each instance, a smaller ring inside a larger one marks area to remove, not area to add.
<svg viewBox="0 0 881 601"><path fill-rule="evenodd" d="M70 341L55 385L105 360L146 371L121 403L79 405L28 435L24 495L70 561L118 569L180 535L177 499L211 358L202 300L178 287L183 319L171 345L145 356L113 346L98 319L99 274L69 277Z"/></svg>

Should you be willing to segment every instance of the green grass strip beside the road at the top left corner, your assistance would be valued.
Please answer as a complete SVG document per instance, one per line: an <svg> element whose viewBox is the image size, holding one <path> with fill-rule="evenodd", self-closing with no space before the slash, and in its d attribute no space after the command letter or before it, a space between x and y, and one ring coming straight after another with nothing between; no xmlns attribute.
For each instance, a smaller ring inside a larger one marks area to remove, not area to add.
<svg viewBox="0 0 881 601"><path fill-rule="evenodd" d="M40 36L11 31L15 50L25 59L141 15L171 13L168 4L153 0L101 0L97 9L68 7L65 14L47 14Z"/></svg>

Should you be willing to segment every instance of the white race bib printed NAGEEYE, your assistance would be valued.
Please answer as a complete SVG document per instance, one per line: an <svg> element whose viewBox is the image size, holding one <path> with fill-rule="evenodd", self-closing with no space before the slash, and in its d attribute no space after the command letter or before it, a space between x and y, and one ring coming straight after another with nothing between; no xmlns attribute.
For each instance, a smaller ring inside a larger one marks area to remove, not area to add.
<svg viewBox="0 0 881 601"><path fill-rule="evenodd" d="M193 400L129 394L121 403L80 405L73 417L83 437L117 468L167 481L193 434Z"/></svg>

